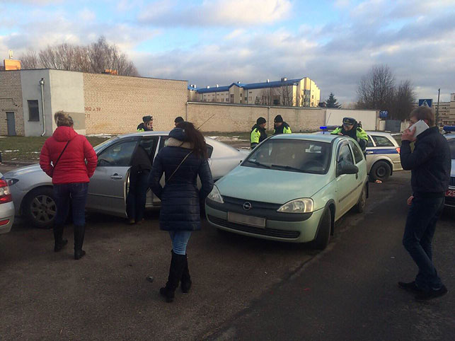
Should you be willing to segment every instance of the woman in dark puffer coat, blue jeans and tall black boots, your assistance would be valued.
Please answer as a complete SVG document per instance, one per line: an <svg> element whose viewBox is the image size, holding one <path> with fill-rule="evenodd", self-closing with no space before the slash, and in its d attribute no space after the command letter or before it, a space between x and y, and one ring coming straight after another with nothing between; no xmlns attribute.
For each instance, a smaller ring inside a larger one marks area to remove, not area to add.
<svg viewBox="0 0 455 341"><path fill-rule="evenodd" d="M172 241L168 282L160 289L166 301L172 302L180 281L183 292L190 290L186 245L191 231L201 228L200 202L212 191L213 180L207 161L207 145L192 123L180 123L169 133L164 145L154 160L150 188L161 199L160 229L169 231ZM163 173L164 188L160 185ZM200 190L196 185L197 175L202 183Z"/></svg>

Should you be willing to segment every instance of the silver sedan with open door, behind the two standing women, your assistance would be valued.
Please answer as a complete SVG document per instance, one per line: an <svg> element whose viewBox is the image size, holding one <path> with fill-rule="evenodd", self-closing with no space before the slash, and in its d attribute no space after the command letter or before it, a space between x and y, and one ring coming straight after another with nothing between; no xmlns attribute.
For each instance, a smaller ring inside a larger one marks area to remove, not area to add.
<svg viewBox="0 0 455 341"><path fill-rule="evenodd" d="M147 146L150 158L163 148L168 132L138 132L113 137L98 144L98 166L88 186L86 209L115 216L126 216L126 197L129 185L129 168L134 149L139 141ZM214 180L229 173L248 153L206 137L209 165ZM39 164L18 168L5 174L13 195L16 216L23 216L33 226L44 228L52 225L56 205L52 179ZM163 181L163 180L162 180ZM160 207L158 197L149 190L146 207Z"/></svg>

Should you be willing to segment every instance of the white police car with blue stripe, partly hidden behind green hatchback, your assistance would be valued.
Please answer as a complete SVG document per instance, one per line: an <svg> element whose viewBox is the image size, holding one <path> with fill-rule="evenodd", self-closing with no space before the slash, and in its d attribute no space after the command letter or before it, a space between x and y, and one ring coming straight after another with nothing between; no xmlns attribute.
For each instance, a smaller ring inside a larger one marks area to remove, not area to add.
<svg viewBox="0 0 455 341"><path fill-rule="evenodd" d="M336 126L323 126L318 134L330 134ZM389 132L367 132L367 171L369 180L385 181L396 171L403 171L400 161L400 145Z"/></svg>

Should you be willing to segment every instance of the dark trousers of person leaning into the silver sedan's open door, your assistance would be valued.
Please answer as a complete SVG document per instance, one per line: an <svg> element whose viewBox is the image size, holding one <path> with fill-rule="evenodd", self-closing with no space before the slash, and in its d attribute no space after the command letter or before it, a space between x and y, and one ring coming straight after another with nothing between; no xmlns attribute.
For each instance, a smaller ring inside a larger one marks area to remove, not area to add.
<svg viewBox="0 0 455 341"><path fill-rule="evenodd" d="M129 174L129 190L127 195L127 216L134 221L144 218L145 201L149 190L148 169L142 171L132 170Z"/></svg>

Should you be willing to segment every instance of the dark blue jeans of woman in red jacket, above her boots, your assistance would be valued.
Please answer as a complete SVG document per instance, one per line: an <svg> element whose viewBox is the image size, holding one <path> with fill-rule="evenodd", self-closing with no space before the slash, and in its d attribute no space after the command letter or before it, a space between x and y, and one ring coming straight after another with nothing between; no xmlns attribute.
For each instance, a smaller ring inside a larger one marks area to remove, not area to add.
<svg viewBox="0 0 455 341"><path fill-rule="evenodd" d="M73 224L84 226L86 224L86 202L88 183L64 183L54 185L54 199L57 206L54 225L63 226L67 221L69 200L73 209Z"/></svg>

